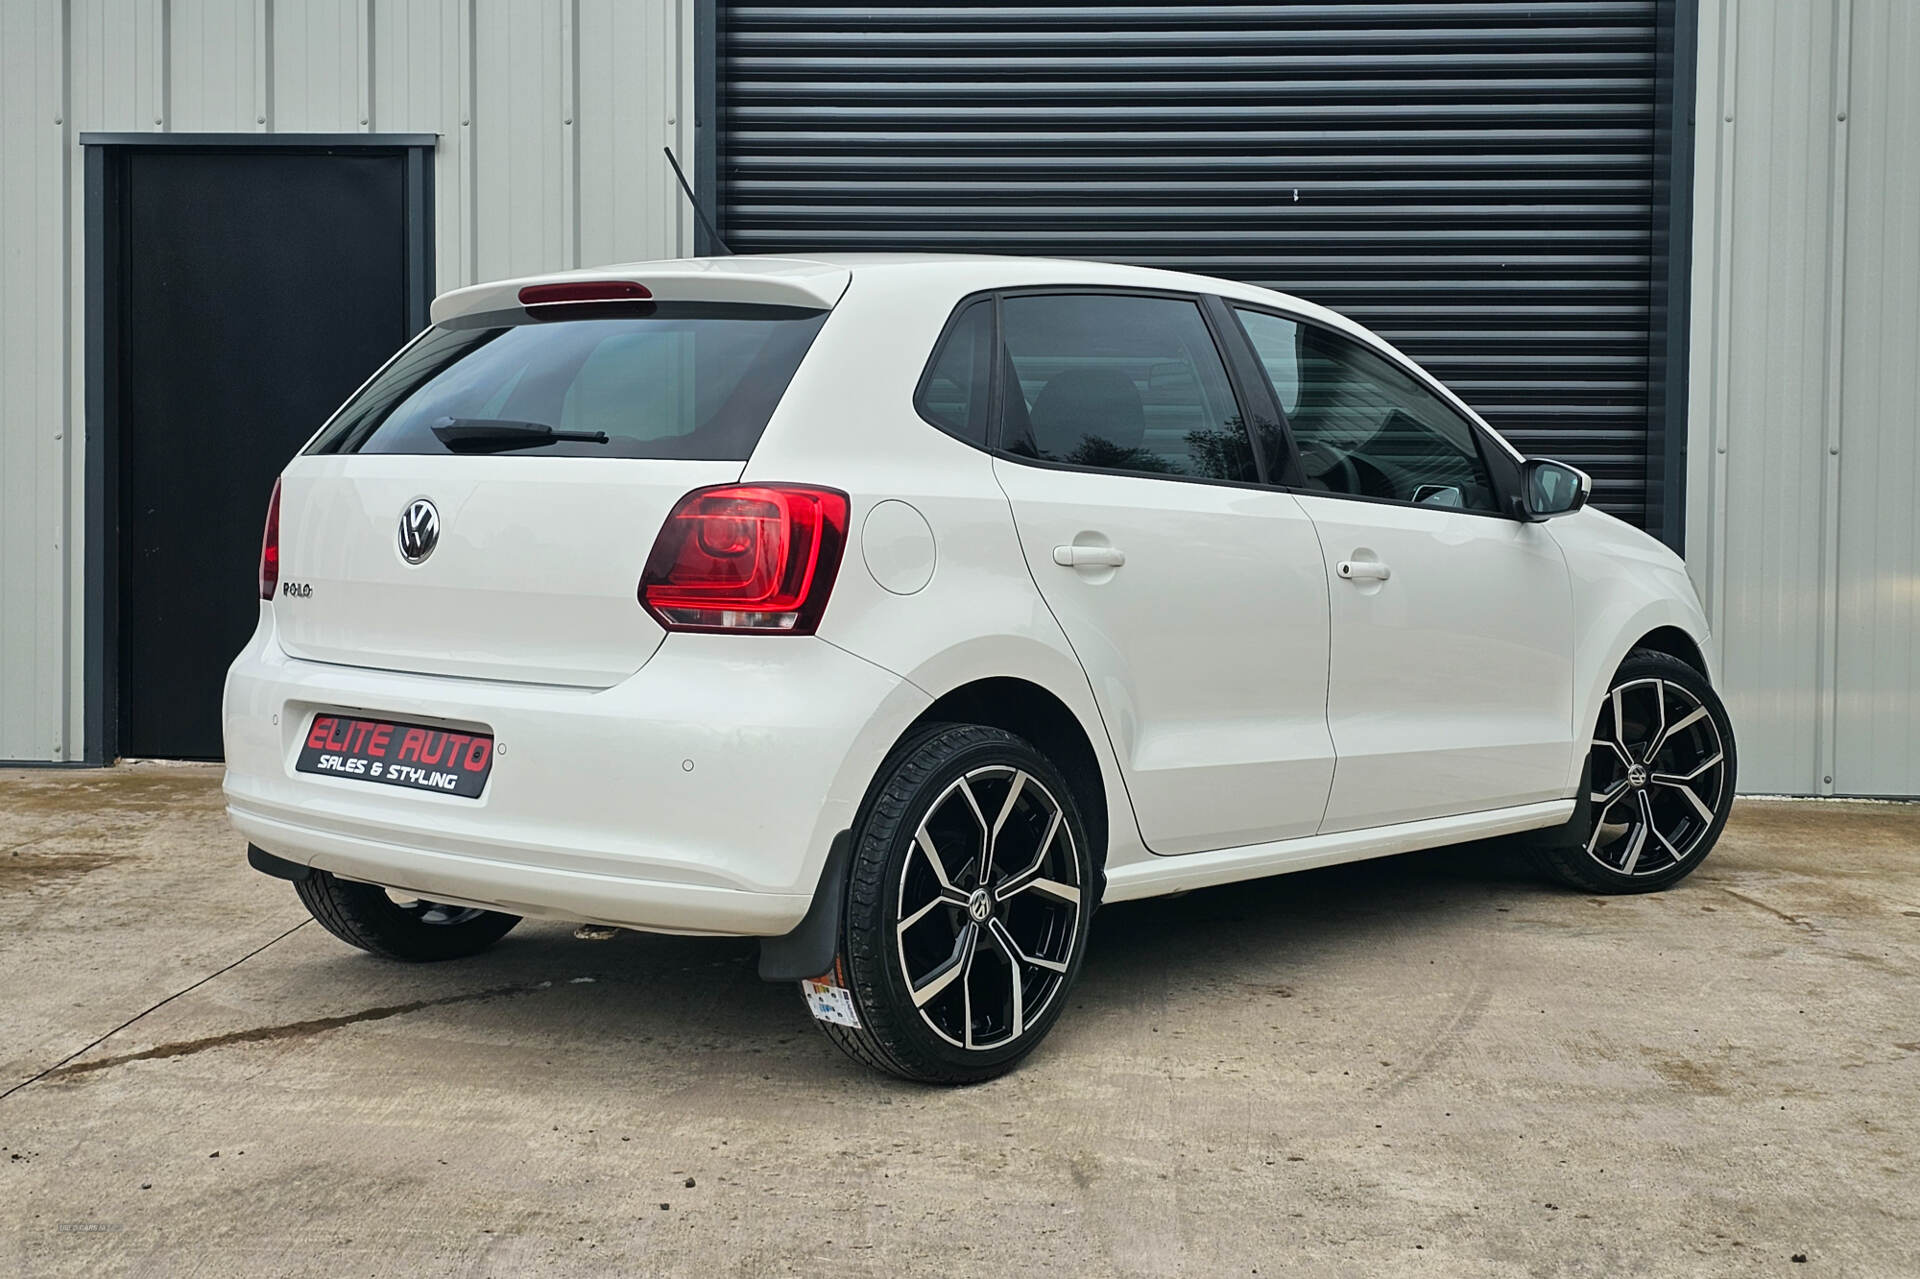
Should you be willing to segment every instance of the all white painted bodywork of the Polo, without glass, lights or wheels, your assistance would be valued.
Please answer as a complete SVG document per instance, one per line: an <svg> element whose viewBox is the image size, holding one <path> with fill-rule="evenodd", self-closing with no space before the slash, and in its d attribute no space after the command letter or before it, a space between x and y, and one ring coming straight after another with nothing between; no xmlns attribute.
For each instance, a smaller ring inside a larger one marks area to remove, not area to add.
<svg viewBox="0 0 1920 1279"><path fill-rule="evenodd" d="M540 459L536 480L532 459L524 474L507 457L294 461L282 578L334 565L328 590L348 603L340 622L296 620L313 601L265 605L228 678L228 799L261 847L520 914L780 933L908 726L954 689L1018 680L1056 699L1092 747L1108 897L1146 897L1561 822L1628 647L1665 626L1705 647L1678 561L1594 511L1521 524L1035 467L912 409L954 303L983 288L1219 292L1392 353L1311 303L1044 259L584 275L687 298L707 284L787 302L812 290L833 315L745 467ZM436 313L495 307L524 282L467 290ZM634 603L672 499L728 472L849 494L847 561L816 638L662 640ZM378 524L420 494L453 501L449 528L470 540L470 555L442 547L438 561L467 649L430 601L415 609L388 590L422 576L374 549ZM365 543L324 545L307 526L319 511ZM588 545L603 563L576 563L595 561ZM486 630L488 599L501 615L492 638L467 638ZM399 620L378 620L378 605ZM478 801L296 774L296 741L323 707L484 724L503 751Z"/></svg>

